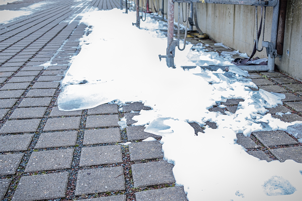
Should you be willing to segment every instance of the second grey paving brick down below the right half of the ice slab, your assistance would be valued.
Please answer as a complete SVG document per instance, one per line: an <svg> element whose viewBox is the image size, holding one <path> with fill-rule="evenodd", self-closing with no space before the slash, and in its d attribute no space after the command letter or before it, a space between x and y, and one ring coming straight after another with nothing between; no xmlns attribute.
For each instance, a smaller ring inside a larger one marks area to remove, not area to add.
<svg viewBox="0 0 302 201"><path fill-rule="evenodd" d="M99 116L88 116L86 121L86 128L94 127L119 127L118 115L99 115Z"/></svg>

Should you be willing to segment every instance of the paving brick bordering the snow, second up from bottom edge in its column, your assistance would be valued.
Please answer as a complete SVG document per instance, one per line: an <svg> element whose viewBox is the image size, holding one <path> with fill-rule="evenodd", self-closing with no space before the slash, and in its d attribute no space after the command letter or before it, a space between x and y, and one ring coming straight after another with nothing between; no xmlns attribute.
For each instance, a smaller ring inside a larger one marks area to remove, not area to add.
<svg viewBox="0 0 302 201"><path fill-rule="evenodd" d="M131 165L134 187L148 187L175 182L173 164L167 161Z"/></svg>

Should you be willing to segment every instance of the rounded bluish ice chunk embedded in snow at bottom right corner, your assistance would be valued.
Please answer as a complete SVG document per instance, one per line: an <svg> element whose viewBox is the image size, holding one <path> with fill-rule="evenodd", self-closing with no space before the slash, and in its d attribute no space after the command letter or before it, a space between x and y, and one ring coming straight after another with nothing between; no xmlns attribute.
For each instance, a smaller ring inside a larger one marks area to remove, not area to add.
<svg viewBox="0 0 302 201"><path fill-rule="evenodd" d="M262 185L264 193L268 196L290 195L296 191L288 180L283 177L273 176Z"/></svg>

